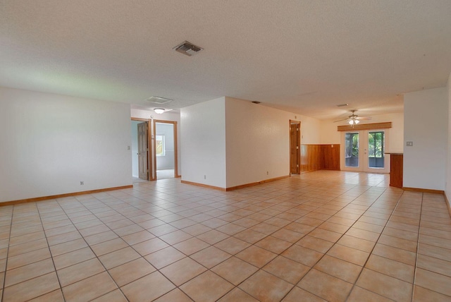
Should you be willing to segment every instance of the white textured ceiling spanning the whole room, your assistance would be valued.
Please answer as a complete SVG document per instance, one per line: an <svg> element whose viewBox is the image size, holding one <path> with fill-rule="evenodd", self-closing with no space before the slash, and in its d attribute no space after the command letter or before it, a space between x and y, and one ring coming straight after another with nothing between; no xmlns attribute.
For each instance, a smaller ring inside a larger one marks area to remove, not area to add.
<svg viewBox="0 0 451 302"><path fill-rule="evenodd" d="M188 40L195 56L173 50ZM0 85L167 108L221 96L317 119L443 87L450 0L0 0ZM335 105L348 103L338 108Z"/></svg>

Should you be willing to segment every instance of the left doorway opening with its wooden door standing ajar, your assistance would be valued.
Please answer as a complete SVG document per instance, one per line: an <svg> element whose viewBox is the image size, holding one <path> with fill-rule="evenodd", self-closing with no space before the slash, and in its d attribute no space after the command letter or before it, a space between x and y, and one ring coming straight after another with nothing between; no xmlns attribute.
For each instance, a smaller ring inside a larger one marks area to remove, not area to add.
<svg viewBox="0 0 451 302"><path fill-rule="evenodd" d="M149 152L150 121L147 119L132 119L132 179L133 183L149 181L152 162Z"/></svg>

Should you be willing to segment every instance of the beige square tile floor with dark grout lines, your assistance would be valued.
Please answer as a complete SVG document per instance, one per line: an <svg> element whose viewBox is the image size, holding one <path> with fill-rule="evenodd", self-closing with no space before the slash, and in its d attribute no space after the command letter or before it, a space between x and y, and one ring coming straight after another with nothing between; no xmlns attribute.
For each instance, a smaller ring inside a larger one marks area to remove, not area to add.
<svg viewBox="0 0 451 302"><path fill-rule="evenodd" d="M451 301L443 195L317 171L0 207L3 301Z"/></svg>

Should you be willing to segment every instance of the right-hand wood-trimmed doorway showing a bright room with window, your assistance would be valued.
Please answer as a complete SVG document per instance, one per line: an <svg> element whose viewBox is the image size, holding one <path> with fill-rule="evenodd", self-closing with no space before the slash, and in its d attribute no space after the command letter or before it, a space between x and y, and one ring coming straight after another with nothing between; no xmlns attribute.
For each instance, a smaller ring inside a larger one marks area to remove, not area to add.
<svg viewBox="0 0 451 302"><path fill-rule="evenodd" d="M154 175L156 179L178 176L177 122L154 120Z"/></svg>

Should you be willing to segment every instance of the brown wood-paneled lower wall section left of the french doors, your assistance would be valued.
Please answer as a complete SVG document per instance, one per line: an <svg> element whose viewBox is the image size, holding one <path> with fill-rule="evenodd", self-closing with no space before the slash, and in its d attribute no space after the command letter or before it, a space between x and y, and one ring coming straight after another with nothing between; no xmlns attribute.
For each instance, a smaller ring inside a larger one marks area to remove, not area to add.
<svg viewBox="0 0 451 302"><path fill-rule="evenodd" d="M301 171L340 170L340 145L301 145Z"/></svg>

